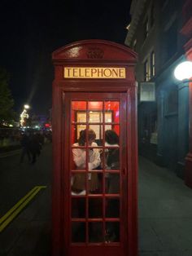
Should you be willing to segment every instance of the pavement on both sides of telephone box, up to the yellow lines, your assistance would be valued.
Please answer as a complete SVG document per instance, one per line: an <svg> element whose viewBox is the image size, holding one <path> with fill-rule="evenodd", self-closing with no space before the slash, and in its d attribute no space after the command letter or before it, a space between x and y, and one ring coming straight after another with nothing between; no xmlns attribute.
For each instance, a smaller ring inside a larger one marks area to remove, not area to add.
<svg viewBox="0 0 192 256"><path fill-rule="evenodd" d="M139 256L191 256L192 189L143 157L138 187ZM0 256L50 256L50 192L42 190L0 233Z"/></svg>

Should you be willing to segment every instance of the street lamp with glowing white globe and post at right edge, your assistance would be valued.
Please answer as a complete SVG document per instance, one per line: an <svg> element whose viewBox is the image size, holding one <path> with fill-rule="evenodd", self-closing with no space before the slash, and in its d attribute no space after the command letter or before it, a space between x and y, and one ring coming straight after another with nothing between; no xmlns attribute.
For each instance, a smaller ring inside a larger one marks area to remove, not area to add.
<svg viewBox="0 0 192 256"><path fill-rule="evenodd" d="M192 61L178 64L174 70L177 80L189 83L189 152L185 157L185 184L192 188Z"/></svg>

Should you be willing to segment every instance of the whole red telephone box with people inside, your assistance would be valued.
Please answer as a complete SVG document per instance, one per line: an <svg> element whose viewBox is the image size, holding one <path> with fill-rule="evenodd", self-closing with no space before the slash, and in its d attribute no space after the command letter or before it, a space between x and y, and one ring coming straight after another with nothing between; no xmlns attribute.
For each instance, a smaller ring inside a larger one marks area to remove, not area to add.
<svg viewBox="0 0 192 256"><path fill-rule="evenodd" d="M103 40L52 55L54 256L137 256L136 58Z"/></svg>

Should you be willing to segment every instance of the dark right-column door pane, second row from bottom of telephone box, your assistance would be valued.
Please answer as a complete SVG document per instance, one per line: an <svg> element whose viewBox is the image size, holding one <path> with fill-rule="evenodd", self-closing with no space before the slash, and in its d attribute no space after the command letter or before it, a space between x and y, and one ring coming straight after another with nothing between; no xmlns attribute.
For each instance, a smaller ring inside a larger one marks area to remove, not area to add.
<svg viewBox="0 0 192 256"><path fill-rule="evenodd" d="M120 218L120 200L119 198L106 199L106 217Z"/></svg>

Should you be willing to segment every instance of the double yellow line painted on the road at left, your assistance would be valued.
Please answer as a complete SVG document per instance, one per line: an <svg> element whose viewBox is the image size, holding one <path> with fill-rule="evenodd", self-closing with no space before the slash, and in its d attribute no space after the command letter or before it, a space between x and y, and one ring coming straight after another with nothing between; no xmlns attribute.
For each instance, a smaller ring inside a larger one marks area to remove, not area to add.
<svg viewBox="0 0 192 256"><path fill-rule="evenodd" d="M46 188L46 186L37 186L34 187L26 196L24 196L16 205L14 205L11 210L7 212L2 218L0 218L0 232L7 227L9 223L18 215L20 211L24 209L26 205L28 205L29 201L33 199L34 196L42 189Z"/></svg>

